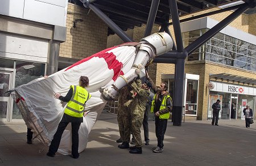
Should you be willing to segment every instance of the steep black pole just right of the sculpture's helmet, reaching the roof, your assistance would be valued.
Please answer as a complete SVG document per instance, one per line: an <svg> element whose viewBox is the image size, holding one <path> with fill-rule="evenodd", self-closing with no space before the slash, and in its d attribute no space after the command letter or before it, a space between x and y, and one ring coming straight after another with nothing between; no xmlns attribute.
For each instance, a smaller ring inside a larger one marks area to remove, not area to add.
<svg viewBox="0 0 256 166"><path fill-rule="evenodd" d="M182 42L182 36L181 36L181 30L180 30L180 20L179 20L179 14L177 11L177 3L176 0L169 0L169 6L171 10L172 15L172 23L174 26L174 35L176 39L176 45L177 45L177 52L183 52L183 42Z"/></svg>

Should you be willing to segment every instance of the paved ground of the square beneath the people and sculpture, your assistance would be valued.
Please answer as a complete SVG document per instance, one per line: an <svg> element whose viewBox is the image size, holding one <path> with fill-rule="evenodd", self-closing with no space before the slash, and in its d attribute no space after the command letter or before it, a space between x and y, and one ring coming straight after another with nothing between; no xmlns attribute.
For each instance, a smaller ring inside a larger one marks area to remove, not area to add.
<svg viewBox="0 0 256 166"><path fill-rule="evenodd" d="M156 145L154 122L149 122L150 145L142 154L120 150L117 117L102 113L89 135L86 150L79 159L46 156L43 144L26 143L24 123L0 122L0 166L2 165L256 165L256 124L245 128L244 120L185 121L181 127L168 122L164 151L152 153ZM143 130L142 130L143 133ZM142 134L143 138L143 134Z"/></svg>

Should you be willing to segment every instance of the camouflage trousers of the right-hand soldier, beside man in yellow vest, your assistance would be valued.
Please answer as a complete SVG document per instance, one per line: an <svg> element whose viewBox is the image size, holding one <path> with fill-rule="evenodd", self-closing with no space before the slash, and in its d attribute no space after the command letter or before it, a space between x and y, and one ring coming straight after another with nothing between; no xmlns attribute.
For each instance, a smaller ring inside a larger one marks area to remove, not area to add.
<svg viewBox="0 0 256 166"><path fill-rule="evenodd" d="M140 114L131 114L131 131L133 132L135 147L142 147L141 126L144 118L144 112Z"/></svg>

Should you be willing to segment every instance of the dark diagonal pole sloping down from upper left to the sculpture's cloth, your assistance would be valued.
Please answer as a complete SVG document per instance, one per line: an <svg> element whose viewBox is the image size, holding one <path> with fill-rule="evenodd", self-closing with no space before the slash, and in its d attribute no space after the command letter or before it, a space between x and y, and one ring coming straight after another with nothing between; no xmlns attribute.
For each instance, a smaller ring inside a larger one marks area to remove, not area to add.
<svg viewBox="0 0 256 166"><path fill-rule="evenodd" d="M107 26L112 29L115 34L119 36L123 40L123 42L133 42L133 39L130 38L121 28L117 26L108 16L106 16L100 9L96 6L89 3L88 7L99 17L102 21L104 21Z"/></svg>

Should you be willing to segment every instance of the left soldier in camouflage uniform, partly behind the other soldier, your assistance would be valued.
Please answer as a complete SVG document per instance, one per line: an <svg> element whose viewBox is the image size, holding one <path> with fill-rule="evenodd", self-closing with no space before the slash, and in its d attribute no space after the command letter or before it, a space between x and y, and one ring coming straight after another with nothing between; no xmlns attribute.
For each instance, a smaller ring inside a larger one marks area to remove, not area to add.
<svg viewBox="0 0 256 166"><path fill-rule="evenodd" d="M131 109L124 104L131 99L130 87L125 86L118 90L118 110L117 110L117 121L119 127L119 133L122 140L122 144L118 147L121 149L129 148L130 135L131 135Z"/></svg>

